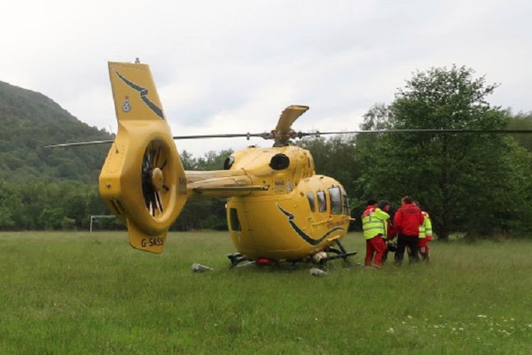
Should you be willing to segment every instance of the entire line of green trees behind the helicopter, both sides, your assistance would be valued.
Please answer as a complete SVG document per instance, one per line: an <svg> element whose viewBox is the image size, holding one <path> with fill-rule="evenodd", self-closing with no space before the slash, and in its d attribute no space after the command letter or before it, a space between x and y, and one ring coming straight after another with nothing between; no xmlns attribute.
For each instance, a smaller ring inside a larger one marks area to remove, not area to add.
<svg viewBox="0 0 532 355"><path fill-rule="evenodd" d="M375 104L361 129L532 129L532 114L492 107L497 85L453 66L416 72L394 101ZM377 133L297 142L316 173L340 181L358 219L370 198L394 207L412 195L431 214L436 234L527 236L532 231L532 135ZM195 158L186 170L220 170L232 151ZM172 230L226 229L225 200L190 200ZM82 182L0 180L0 229L88 229L90 214L109 214L97 187ZM116 221L101 228L123 228ZM360 221L353 223L360 228Z"/></svg>

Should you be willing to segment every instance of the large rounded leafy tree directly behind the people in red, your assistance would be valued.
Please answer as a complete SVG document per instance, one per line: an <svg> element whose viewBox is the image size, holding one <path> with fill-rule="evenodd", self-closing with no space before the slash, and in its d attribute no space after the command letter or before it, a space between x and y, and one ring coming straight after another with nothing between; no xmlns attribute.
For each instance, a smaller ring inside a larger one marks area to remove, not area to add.
<svg viewBox="0 0 532 355"><path fill-rule="evenodd" d="M504 129L506 112L487 102L496 87L484 77L475 78L467 67L416 72L399 89L389 111L377 112L378 120L367 115L365 124L377 122L393 129ZM519 151L510 137L389 133L358 143L365 197L387 195L399 202L402 195L414 195L431 212L440 239L458 230L506 231L527 195L519 195L521 186L515 183L525 167L510 162L530 155Z"/></svg>

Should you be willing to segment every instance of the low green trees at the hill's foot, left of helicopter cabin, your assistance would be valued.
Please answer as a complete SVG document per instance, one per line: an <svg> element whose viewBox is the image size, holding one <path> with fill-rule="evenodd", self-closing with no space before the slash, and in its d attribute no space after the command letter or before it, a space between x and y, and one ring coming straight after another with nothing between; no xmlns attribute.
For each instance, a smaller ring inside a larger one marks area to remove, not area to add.
<svg viewBox="0 0 532 355"><path fill-rule="evenodd" d="M182 152L187 170L219 170L232 151L194 158ZM227 229L225 200L189 200L171 230ZM91 215L110 214L98 186L82 182L0 180L0 230L88 230ZM125 229L117 219L101 219L95 229Z"/></svg>

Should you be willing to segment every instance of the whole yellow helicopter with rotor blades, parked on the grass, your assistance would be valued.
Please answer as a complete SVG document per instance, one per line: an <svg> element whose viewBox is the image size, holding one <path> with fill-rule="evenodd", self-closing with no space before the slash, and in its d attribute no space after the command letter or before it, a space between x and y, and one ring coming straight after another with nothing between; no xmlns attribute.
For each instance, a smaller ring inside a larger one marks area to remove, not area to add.
<svg viewBox="0 0 532 355"><path fill-rule="evenodd" d="M228 256L231 266L241 261L323 264L336 258L349 264L348 258L357 252L346 251L340 242L350 222L343 186L316 175L311 153L289 145L292 138L316 134L291 128L309 107L287 107L268 133L172 136L148 65L109 62L109 76L118 120L115 140L53 146L112 143L99 176L99 191L111 212L126 224L133 248L161 253L167 231L187 199L225 197L229 233L238 250ZM390 131L480 132L398 129L321 134ZM179 138L236 136L275 143L271 148L238 151L226 159L223 170L214 171L185 171L174 144Z"/></svg>

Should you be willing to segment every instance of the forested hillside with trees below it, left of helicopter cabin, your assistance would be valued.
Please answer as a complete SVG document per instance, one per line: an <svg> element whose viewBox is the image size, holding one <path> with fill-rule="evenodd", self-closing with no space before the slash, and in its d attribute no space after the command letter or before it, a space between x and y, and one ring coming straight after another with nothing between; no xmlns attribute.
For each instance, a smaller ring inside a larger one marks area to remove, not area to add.
<svg viewBox="0 0 532 355"><path fill-rule="evenodd" d="M87 126L43 94L5 82L0 82L0 125L0 230L88 229L91 214L110 214L97 186L109 146L43 146L111 134ZM194 158L183 152L182 158L189 170L216 170L230 153ZM191 201L172 229L225 229L224 204ZM107 219L98 228L122 226Z"/></svg>

